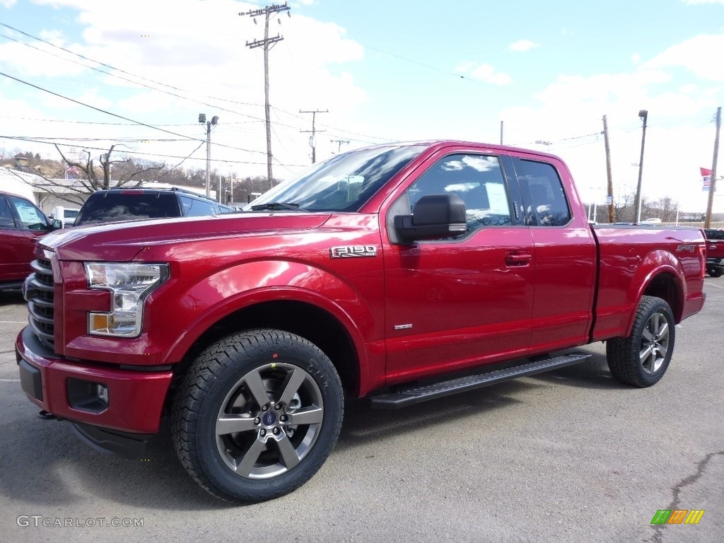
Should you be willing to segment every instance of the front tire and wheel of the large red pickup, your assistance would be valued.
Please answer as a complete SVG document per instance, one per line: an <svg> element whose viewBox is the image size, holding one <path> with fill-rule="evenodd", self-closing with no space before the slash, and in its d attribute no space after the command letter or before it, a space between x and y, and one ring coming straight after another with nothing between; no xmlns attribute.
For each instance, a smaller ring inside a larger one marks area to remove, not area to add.
<svg viewBox="0 0 724 543"><path fill-rule="evenodd" d="M327 355L295 334L252 330L198 356L174 396L172 436L203 489L230 502L259 502L319 471L343 411Z"/></svg>

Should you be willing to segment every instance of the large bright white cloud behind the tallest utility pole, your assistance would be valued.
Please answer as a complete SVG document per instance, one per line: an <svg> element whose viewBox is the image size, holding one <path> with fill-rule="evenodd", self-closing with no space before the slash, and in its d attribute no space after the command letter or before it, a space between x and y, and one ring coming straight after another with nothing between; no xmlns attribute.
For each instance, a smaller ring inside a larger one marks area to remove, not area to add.
<svg viewBox="0 0 724 543"><path fill-rule="evenodd" d="M12 65L19 78L53 77L43 80L41 86L149 125L188 122L190 126L172 130L194 138L203 138L203 131L198 130L196 123L198 113L206 113L208 117L218 115L220 125L215 143L266 152L264 124L259 122L264 119L263 49L247 46L247 43L263 38L264 19L257 17L258 24L255 25L251 17L239 15L249 9L258 9L258 4L234 0L176 0L169 9L169 4L163 2L127 0L124 9L117 9L96 0L37 1L54 9L75 10L72 17L83 27L83 32L73 34L72 40L64 38L59 30L43 30L44 39L130 72L124 74L101 67L101 70L131 81L101 75L70 62L59 62L40 52L28 53L28 48L20 44L14 49L0 46L0 63ZM303 0L303 3L311 2ZM341 115L368 101L369 96L355 80L349 66L363 59L363 47L347 38L345 29L339 25L297 14L293 5L291 11L292 17L282 13L272 17L270 22L269 35L279 33L284 37L269 52L272 138L277 160L285 164L306 164L309 161L306 156L308 135L300 129L309 128L309 119L298 111L329 109L329 114L317 118L317 126L321 129L326 122L343 124L339 122ZM138 17L139 13L143 13L143 17ZM43 48L68 56L49 46ZM144 87L159 88L166 93ZM43 96L41 100L45 104L53 102L54 108L84 111L60 98ZM93 114L87 110L85 113ZM144 140L157 138L160 134L147 127L129 128L127 132L121 132L118 127L115 130L117 137L135 136ZM329 138L332 137L318 138L317 156L324 155L324 146L330 146ZM193 145L193 141L190 143ZM145 151L156 148L154 145L144 144L138 149ZM179 146L175 151L167 148L165 152L184 156L190 152L185 147L180 151ZM263 162L264 153L234 151L227 147L214 151L214 157ZM266 172L265 167L259 169L260 174L263 173L261 170ZM289 171L281 173L288 175ZM274 174L277 174L277 168Z"/></svg>

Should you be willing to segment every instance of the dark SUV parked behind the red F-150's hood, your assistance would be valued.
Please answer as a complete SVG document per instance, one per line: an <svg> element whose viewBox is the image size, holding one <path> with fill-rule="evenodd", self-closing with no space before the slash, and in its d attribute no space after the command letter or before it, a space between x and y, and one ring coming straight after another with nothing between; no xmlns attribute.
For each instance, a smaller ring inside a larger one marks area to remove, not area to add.
<svg viewBox="0 0 724 543"><path fill-rule="evenodd" d="M80 208L74 225L218 215L231 211L235 210L180 188L114 188L91 194Z"/></svg>

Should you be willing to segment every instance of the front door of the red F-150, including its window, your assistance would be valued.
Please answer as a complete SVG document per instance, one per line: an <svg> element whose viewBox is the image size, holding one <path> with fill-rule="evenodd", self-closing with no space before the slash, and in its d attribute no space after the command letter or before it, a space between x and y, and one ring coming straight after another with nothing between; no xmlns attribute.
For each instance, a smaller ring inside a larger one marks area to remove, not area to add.
<svg viewBox="0 0 724 543"><path fill-rule="evenodd" d="M510 358L529 348L533 240L515 207L505 157L475 148L441 150L400 188L387 211L385 262L387 382ZM409 245L392 217L424 195L456 194L468 232ZM516 203L517 202L517 203Z"/></svg>

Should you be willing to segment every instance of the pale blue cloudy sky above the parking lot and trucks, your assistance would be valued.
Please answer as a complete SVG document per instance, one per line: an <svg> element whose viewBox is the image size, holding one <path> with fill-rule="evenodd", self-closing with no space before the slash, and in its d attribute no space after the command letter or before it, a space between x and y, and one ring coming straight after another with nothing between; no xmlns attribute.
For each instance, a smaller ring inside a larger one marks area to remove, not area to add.
<svg viewBox="0 0 724 543"><path fill-rule="evenodd" d="M0 0L0 151L127 156L266 176L264 16L232 0ZM724 103L724 0L290 0L269 36L273 173L424 139L548 151L586 202L703 213ZM256 21L256 22L255 22ZM311 114L300 111L319 111ZM22 139L17 139L22 138ZM724 148L724 142L722 146ZM718 173L724 173L718 153ZM714 211L724 212L724 181Z"/></svg>

